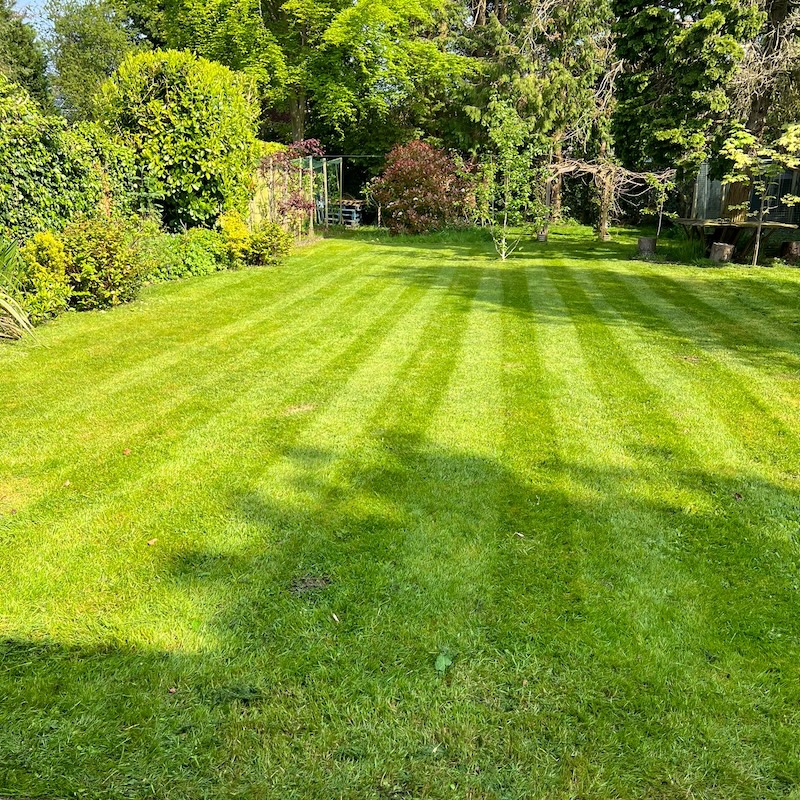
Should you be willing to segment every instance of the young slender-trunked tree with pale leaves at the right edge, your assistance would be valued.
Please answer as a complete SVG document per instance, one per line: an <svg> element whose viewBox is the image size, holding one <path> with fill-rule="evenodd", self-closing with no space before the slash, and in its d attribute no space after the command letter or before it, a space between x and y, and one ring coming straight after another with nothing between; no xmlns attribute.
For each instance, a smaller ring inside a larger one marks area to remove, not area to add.
<svg viewBox="0 0 800 800"><path fill-rule="evenodd" d="M758 263L761 233L764 220L770 213L777 178L786 170L800 169L800 125L791 125L773 141L759 139L744 126L734 127L722 147L722 156L728 161L728 171L723 182L746 186L749 199L752 190L758 200L754 216L758 222L753 241L753 266ZM784 202L795 202L800 198L786 197ZM749 209L745 203L744 211Z"/></svg>

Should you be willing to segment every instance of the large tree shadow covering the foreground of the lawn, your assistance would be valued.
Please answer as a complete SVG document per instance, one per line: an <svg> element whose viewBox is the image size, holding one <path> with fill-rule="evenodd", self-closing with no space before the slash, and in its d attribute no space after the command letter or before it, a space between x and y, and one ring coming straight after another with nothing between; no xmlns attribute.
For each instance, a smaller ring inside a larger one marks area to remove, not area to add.
<svg viewBox="0 0 800 800"><path fill-rule="evenodd" d="M637 455L523 479L396 429L285 450L281 494L219 487L245 545L165 555L205 649L0 645L0 789L784 795L800 496Z"/></svg>

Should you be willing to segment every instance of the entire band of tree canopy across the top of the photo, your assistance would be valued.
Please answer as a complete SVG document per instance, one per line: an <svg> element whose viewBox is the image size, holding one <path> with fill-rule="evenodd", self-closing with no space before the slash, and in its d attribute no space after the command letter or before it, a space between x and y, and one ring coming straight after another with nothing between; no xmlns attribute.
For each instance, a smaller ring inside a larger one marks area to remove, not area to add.
<svg viewBox="0 0 800 800"><path fill-rule="evenodd" d="M0 71L73 121L131 53L165 48L246 76L261 138L338 152L496 155L506 109L540 161L687 178L737 126L766 147L800 119L796 0L50 0L49 77L9 3Z"/></svg>

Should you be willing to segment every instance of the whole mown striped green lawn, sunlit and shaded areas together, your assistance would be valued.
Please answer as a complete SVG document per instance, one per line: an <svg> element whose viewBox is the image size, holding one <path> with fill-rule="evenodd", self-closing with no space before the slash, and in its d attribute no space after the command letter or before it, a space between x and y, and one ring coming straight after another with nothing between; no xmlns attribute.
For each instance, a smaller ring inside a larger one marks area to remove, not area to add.
<svg viewBox="0 0 800 800"><path fill-rule="evenodd" d="M800 797L800 272L632 243L0 348L0 795Z"/></svg>

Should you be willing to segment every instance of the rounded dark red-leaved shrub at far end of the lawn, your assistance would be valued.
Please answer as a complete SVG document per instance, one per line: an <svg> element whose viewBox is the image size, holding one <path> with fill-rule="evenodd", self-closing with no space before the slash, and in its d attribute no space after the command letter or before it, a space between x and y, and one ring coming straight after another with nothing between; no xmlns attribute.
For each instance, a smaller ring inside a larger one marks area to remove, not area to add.
<svg viewBox="0 0 800 800"><path fill-rule="evenodd" d="M425 142L398 145L371 186L392 233L425 233L463 222L474 203L459 163Z"/></svg>

